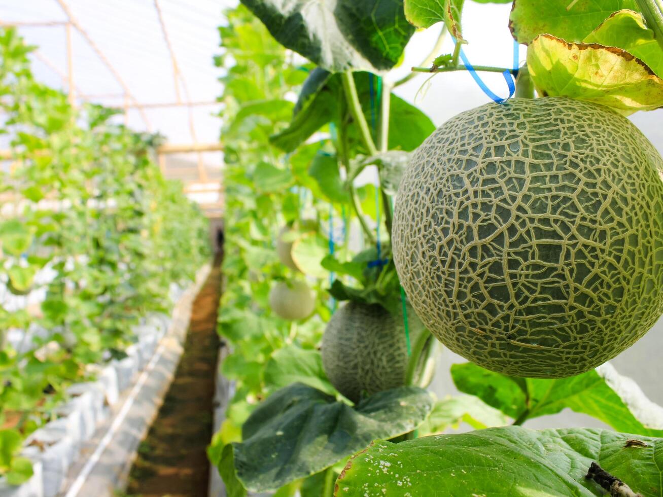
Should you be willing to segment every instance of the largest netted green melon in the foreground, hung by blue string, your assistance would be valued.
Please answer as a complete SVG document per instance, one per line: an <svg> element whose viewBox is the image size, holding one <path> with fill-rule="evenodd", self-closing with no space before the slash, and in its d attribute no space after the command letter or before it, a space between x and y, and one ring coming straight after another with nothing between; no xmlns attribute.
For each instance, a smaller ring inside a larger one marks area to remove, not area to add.
<svg viewBox="0 0 663 497"><path fill-rule="evenodd" d="M426 327L480 366L587 371L663 311L663 160L592 103L512 99L463 112L398 189L398 275Z"/></svg>

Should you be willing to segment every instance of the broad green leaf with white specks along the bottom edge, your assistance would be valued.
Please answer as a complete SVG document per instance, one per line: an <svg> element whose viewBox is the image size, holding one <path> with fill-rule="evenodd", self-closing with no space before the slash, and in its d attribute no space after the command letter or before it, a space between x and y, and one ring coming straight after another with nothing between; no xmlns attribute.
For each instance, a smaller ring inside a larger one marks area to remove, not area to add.
<svg viewBox="0 0 663 497"><path fill-rule="evenodd" d="M638 439L646 446L625 447ZM601 496L591 463L643 496L660 496L663 439L603 429L489 428L401 443L376 441L336 480L338 497ZM624 494L626 495L626 494Z"/></svg>

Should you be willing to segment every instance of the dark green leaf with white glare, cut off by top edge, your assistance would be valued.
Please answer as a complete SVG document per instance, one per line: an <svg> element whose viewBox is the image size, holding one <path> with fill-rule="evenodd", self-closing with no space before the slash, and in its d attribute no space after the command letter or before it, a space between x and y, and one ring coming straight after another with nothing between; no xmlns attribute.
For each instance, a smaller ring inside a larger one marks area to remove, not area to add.
<svg viewBox="0 0 663 497"><path fill-rule="evenodd" d="M272 36L331 72L389 70L414 27L402 1L243 0Z"/></svg>

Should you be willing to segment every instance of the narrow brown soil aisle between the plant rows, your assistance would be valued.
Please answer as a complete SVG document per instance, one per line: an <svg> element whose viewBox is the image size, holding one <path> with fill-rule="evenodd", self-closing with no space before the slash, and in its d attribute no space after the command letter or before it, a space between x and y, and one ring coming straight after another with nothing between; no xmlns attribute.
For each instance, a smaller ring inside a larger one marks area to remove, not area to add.
<svg viewBox="0 0 663 497"><path fill-rule="evenodd" d="M221 256L194 301L184 353L147 438L129 474L127 495L206 497L209 467L206 448L212 412L219 337L217 307Z"/></svg>

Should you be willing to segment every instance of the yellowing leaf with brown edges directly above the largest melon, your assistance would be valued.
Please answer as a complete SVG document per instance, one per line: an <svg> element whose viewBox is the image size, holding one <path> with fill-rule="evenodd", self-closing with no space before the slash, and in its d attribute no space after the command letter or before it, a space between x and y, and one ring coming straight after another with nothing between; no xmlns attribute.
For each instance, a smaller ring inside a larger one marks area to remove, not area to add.
<svg viewBox="0 0 663 497"><path fill-rule="evenodd" d="M527 50L527 66L540 95L600 103L624 115L663 106L663 80L621 48L542 34Z"/></svg>

